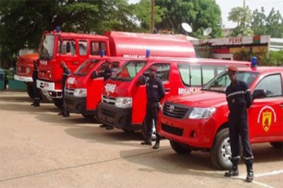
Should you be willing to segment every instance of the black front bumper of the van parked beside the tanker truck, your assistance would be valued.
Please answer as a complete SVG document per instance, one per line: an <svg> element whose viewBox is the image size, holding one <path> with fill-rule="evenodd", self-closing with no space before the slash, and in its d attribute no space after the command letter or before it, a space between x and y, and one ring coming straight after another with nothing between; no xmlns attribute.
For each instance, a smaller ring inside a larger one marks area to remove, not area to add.
<svg viewBox="0 0 283 188"><path fill-rule="evenodd" d="M64 94L64 108L72 113L95 115L95 110L86 110L86 97L75 97L72 94Z"/></svg>

